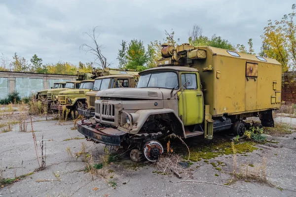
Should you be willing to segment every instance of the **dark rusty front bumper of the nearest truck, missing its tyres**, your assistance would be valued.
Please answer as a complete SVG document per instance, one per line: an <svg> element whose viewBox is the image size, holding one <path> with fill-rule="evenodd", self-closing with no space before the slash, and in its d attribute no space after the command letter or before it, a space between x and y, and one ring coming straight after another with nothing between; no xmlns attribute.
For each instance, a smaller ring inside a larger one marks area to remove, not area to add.
<svg viewBox="0 0 296 197"><path fill-rule="evenodd" d="M111 127L98 127L85 119L77 122L77 130L87 138L111 146L120 146L126 132Z"/></svg>

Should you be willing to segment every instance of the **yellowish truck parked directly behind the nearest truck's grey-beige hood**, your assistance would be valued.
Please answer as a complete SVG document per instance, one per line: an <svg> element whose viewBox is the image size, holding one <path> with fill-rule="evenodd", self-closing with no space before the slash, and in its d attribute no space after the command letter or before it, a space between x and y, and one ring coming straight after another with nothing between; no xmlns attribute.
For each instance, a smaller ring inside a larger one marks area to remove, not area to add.
<svg viewBox="0 0 296 197"><path fill-rule="evenodd" d="M130 73L131 72L131 73ZM98 77L95 80L93 90L85 94L85 107L84 109L78 109L80 115L84 117L95 116L95 100L98 91L110 89L110 88L134 88L138 80L138 72L127 71L127 73L133 74L115 74L109 76Z"/></svg>

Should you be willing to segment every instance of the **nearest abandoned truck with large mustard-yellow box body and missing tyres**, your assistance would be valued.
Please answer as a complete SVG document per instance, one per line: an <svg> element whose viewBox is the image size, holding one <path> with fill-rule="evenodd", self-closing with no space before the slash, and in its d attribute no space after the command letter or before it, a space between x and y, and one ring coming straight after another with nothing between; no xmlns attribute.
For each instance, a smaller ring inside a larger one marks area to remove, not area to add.
<svg viewBox="0 0 296 197"><path fill-rule="evenodd" d="M98 92L96 123L82 120L78 131L106 145L135 145L132 160L143 153L153 162L164 151L158 139L172 133L206 139L224 130L242 135L251 127L244 120L253 116L273 127L272 110L281 103L276 60L189 44L163 45L161 55L158 67L139 73L137 88Z"/></svg>

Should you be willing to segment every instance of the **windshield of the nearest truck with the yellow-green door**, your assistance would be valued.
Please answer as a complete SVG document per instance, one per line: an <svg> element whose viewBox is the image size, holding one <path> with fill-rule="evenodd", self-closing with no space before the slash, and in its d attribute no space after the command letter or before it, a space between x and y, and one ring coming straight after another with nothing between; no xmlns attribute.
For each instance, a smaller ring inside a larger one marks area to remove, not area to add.
<svg viewBox="0 0 296 197"><path fill-rule="evenodd" d="M137 88L179 88L178 75L175 72L155 72L143 74Z"/></svg>

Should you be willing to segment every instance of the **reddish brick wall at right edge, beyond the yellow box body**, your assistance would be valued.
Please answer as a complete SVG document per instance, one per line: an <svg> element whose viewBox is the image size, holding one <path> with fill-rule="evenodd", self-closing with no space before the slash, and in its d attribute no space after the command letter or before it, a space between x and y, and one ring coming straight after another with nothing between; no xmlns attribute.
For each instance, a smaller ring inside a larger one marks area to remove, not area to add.
<svg viewBox="0 0 296 197"><path fill-rule="evenodd" d="M296 103L296 71L288 71L282 75L282 100Z"/></svg>

